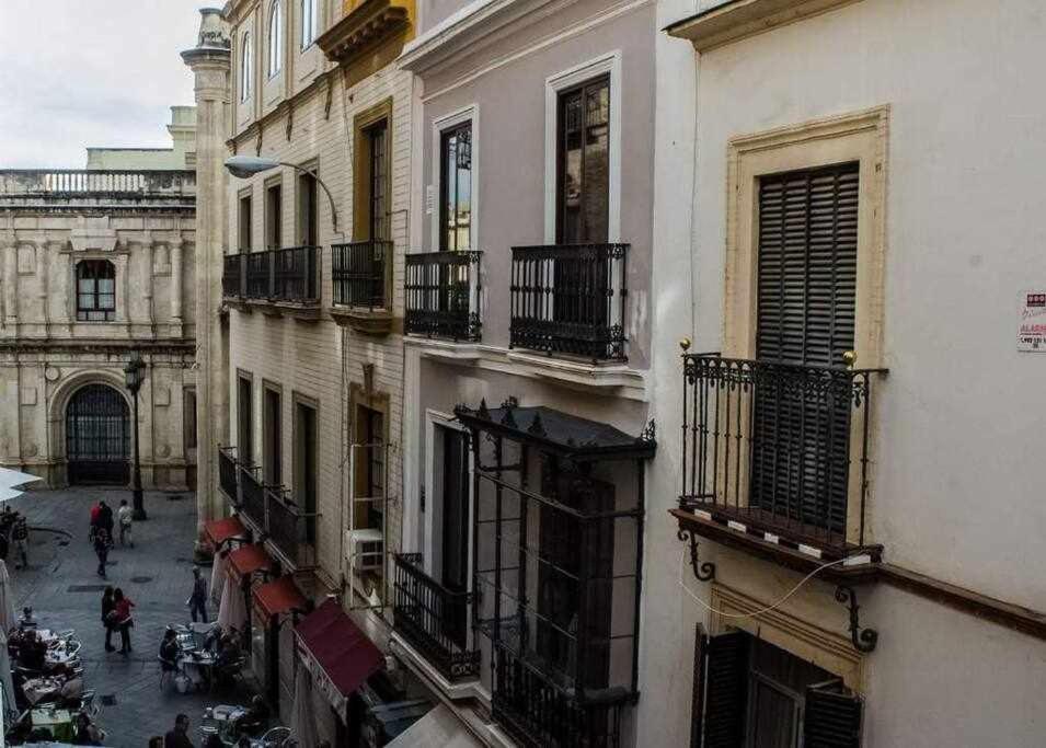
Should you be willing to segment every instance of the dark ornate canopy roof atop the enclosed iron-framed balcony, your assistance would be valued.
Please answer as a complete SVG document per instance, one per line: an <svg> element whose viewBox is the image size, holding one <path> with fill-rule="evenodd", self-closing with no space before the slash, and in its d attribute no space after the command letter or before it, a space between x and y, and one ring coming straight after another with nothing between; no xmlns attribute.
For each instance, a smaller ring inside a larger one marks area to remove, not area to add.
<svg viewBox="0 0 1046 748"><path fill-rule="evenodd" d="M458 405L455 414L470 428L536 445L573 460L650 459L657 448L653 422L641 435L631 436L608 424L543 405L520 407L513 400L494 408L487 408L486 401L475 410Z"/></svg>

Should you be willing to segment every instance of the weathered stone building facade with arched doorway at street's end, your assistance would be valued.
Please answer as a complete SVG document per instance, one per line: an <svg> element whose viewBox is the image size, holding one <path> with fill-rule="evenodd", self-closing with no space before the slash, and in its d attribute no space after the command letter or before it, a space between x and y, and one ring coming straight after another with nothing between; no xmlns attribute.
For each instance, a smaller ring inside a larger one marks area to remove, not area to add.
<svg viewBox="0 0 1046 748"><path fill-rule="evenodd" d="M0 172L0 463L126 485L137 350L143 484L195 485L194 234L193 172Z"/></svg>

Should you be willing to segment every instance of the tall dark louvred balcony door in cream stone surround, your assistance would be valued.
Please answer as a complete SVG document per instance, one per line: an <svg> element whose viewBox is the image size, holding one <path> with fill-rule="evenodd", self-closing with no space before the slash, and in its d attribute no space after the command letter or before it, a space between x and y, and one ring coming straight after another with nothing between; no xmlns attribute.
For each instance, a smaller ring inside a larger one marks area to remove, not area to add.
<svg viewBox="0 0 1046 748"><path fill-rule="evenodd" d="M756 357L782 365L752 414L750 505L844 532L850 400L808 371L853 349L858 163L765 176L759 184Z"/></svg>

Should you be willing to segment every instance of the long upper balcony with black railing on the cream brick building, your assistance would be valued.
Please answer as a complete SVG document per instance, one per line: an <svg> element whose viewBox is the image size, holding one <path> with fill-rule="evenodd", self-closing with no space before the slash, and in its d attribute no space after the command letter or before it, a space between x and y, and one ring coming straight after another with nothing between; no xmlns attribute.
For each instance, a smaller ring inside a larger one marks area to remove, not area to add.
<svg viewBox="0 0 1046 748"><path fill-rule="evenodd" d="M226 255L221 290L227 302L250 311L318 319L320 248L291 246Z"/></svg>

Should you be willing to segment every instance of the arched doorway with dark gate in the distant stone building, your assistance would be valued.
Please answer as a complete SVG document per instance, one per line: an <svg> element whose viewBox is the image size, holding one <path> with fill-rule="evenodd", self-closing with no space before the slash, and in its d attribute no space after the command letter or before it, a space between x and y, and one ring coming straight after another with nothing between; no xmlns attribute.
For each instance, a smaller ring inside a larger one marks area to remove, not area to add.
<svg viewBox="0 0 1046 748"><path fill-rule="evenodd" d="M130 477L127 401L107 384L88 384L66 407L69 483L120 484Z"/></svg>

